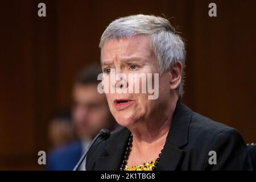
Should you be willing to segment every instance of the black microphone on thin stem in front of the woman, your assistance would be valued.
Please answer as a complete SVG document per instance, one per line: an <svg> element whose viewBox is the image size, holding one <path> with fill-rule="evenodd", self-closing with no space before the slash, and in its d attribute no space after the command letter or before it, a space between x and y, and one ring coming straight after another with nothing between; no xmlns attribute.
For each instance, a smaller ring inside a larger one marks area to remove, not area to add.
<svg viewBox="0 0 256 182"><path fill-rule="evenodd" d="M84 155L82 155L81 159L79 160L79 162L76 164L76 166L73 168L73 171L77 171L77 169L79 168L79 166L81 165L81 163L84 161L86 155L88 154L90 148L93 146L93 144L96 142L96 140L98 138L100 138L101 140L106 140L108 139L110 136L110 131L108 129L101 129L98 134L96 135L96 137L92 140L92 142L90 142L89 146L87 147L86 151L84 152Z"/></svg>

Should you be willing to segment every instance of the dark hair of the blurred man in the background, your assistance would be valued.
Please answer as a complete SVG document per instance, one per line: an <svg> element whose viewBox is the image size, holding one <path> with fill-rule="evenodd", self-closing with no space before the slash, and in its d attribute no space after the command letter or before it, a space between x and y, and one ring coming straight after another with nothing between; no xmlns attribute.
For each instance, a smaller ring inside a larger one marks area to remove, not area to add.
<svg viewBox="0 0 256 182"><path fill-rule="evenodd" d="M102 73L100 66L90 66L82 69L77 75L75 84L87 85L87 84L98 84L101 80L97 80L98 75Z"/></svg>

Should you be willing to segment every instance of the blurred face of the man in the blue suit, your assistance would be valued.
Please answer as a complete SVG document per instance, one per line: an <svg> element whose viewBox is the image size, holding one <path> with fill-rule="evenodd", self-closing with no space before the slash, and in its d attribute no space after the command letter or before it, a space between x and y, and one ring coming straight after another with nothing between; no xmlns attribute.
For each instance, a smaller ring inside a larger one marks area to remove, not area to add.
<svg viewBox="0 0 256 182"><path fill-rule="evenodd" d="M110 126L110 111L97 84L76 84L73 88L73 119L81 138L92 139L101 128Z"/></svg>

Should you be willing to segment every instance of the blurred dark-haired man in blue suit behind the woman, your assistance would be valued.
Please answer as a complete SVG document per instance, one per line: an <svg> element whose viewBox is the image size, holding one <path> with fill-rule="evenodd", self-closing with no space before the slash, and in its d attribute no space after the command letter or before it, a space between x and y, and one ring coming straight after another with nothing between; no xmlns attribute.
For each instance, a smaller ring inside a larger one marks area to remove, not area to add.
<svg viewBox="0 0 256 182"><path fill-rule="evenodd" d="M79 74L73 85L72 116L79 141L53 151L48 158L49 170L72 170L90 141L102 128L113 131L117 123L110 114L105 94L97 91L100 67L89 67ZM80 170L85 170L85 161Z"/></svg>

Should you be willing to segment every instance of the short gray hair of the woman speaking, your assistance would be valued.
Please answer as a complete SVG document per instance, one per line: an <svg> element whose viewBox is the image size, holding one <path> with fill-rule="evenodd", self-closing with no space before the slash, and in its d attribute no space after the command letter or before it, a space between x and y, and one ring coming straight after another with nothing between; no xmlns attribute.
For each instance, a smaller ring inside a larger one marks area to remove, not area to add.
<svg viewBox="0 0 256 182"><path fill-rule="evenodd" d="M138 14L114 20L102 34L100 48L110 39L136 35L150 36L150 46L158 60L160 73L174 67L177 61L181 61L185 68L185 44L171 23L159 16ZM183 95L183 85L184 70L176 88L179 98Z"/></svg>

